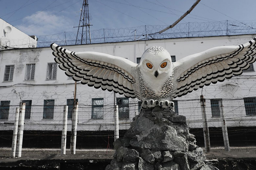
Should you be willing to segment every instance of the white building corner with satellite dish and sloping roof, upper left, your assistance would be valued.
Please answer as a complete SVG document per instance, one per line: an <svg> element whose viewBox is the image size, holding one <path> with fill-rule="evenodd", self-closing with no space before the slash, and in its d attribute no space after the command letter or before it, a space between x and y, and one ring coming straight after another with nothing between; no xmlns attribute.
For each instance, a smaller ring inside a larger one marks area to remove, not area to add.
<svg viewBox="0 0 256 170"><path fill-rule="evenodd" d="M36 48L37 37L26 35L0 18L0 50L7 48Z"/></svg>

